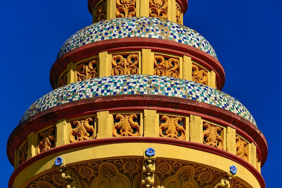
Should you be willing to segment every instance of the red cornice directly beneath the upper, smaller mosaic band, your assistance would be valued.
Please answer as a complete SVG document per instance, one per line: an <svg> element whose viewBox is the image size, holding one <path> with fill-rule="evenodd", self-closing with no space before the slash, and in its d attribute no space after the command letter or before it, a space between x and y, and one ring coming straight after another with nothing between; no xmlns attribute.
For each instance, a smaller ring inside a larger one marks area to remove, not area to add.
<svg viewBox="0 0 282 188"><path fill-rule="evenodd" d="M164 45L166 44L166 45ZM55 61L50 70L50 84L54 89L55 79L58 79L67 64L76 62L86 57L94 56L102 51L119 51L119 50L141 50L151 49L154 51L167 52L179 56L190 56L205 67L213 70L217 78L217 86L221 90L225 83L225 73L222 65L217 59L210 54L175 41L154 38L128 37L119 39L107 39L96 41L71 50Z"/></svg>

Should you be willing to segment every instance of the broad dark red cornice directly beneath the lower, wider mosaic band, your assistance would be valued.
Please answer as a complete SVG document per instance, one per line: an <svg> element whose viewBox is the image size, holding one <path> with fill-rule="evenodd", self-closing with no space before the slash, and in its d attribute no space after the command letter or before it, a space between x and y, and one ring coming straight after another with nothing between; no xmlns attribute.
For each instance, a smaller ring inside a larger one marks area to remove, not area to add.
<svg viewBox="0 0 282 188"><path fill-rule="evenodd" d="M162 101L162 103L159 101ZM21 143L23 143L27 138L27 135L32 131L38 131L47 125L55 123L56 120L93 114L105 110L119 111L144 109L186 115L193 114L225 126L230 126L236 129L237 132L246 139L254 142L258 154L262 154L261 166L265 163L268 149L264 135L250 121L241 116L220 107L191 99L133 94L80 99L38 112L19 124L11 133L7 143L8 159L13 165L14 151Z"/></svg>

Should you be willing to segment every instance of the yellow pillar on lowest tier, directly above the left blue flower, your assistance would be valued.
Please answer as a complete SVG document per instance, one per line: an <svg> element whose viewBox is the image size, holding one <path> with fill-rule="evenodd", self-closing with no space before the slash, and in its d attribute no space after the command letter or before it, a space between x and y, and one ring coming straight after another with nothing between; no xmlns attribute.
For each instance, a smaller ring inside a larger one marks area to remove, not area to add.
<svg viewBox="0 0 282 188"><path fill-rule="evenodd" d="M69 143L69 131L67 119L56 121L56 147Z"/></svg>

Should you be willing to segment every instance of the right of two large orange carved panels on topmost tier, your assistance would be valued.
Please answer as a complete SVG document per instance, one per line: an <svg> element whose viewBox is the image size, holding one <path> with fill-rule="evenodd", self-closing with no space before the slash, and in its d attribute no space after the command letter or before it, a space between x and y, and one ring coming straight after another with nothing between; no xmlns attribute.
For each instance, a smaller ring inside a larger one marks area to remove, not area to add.
<svg viewBox="0 0 282 188"><path fill-rule="evenodd" d="M149 16L168 19L168 0L150 0Z"/></svg>

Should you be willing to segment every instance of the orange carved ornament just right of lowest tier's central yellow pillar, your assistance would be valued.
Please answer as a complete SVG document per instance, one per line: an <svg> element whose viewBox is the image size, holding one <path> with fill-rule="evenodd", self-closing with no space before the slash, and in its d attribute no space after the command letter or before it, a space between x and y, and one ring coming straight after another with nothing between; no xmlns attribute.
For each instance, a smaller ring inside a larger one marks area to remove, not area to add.
<svg viewBox="0 0 282 188"><path fill-rule="evenodd" d="M168 116L162 116L161 120L166 121L165 123L161 123L159 127L161 137L186 139L186 131L183 126L179 125L182 118L169 118ZM165 134L163 134L163 130L166 130ZM181 133L180 136L178 131Z"/></svg>

